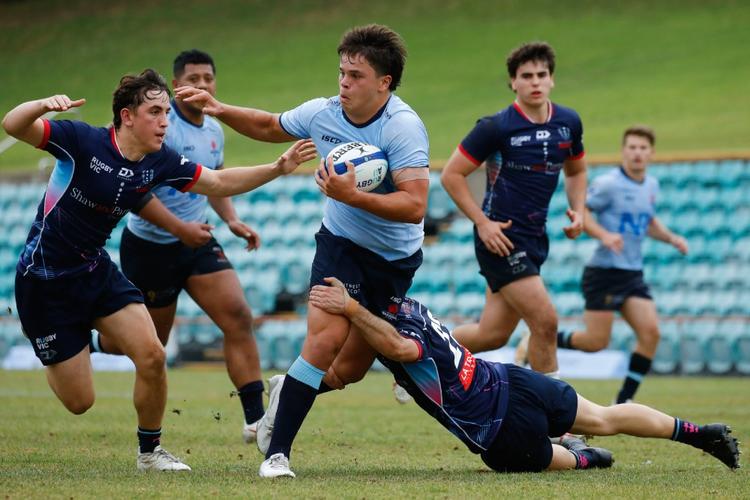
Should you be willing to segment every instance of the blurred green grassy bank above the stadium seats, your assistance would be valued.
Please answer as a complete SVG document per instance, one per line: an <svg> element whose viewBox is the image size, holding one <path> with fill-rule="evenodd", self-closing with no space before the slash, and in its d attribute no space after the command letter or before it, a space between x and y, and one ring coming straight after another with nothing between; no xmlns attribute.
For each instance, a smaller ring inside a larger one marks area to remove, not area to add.
<svg viewBox="0 0 750 500"><path fill-rule="evenodd" d="M282 111L337 92L335 48L348 27L393 26L410 51L399 94L424 119L440 164L475 119L506 106L504 58L545 39L558 52L553 98L576 108L592 157L616 154L621 131L654 126L661 153L748 152L750 3L731 0L38 0L0 3L0 112L53 93L86 97L83 118L111 119L118 78L179 50L218 65L227 102ZM228 133L228 165L281 150ZM45 153L15 146L0 172Z"/></svg>

